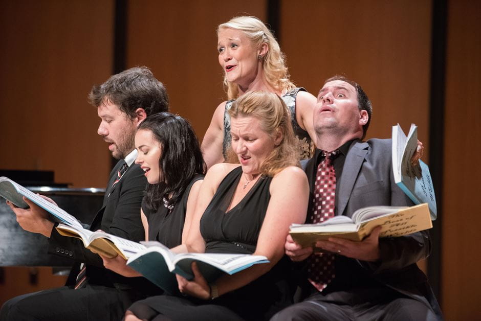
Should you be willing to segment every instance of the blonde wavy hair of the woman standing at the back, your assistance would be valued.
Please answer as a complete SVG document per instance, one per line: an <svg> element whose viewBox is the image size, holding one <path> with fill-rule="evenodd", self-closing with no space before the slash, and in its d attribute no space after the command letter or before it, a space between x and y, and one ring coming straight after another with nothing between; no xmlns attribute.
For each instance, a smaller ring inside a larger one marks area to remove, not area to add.
<svg viewBox="0 0 481 321"><path fill-rule="evenodd" d="M217 35L222 29L243 31L256 49L259 49L263 43L266 43L268 51L263 57L263 67L264 77L267 82L277 91L289 91L295 88L295 85L289 80L290 75L286 67L286 57L280 51L279 43L264 22L250 16L233 17L217 27ZM229 100L238 97L239 88L235 83L227 81L226 75L224 75L224 88L227 91Z"/></svg>

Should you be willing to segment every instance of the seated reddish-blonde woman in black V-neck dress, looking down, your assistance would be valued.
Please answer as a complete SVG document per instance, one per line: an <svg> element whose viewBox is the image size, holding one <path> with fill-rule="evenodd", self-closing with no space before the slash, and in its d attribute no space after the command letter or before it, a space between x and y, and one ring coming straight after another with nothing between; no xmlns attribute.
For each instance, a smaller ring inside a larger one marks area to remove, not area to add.
<svg viewBox="0 0 481 321"><path fill-rule="evenodd" d="M290 113L276 94L251 91L229 114L232 164L209 169L186 241L175 250L263 255L269 263L211 284L192 264L193 280L177 276L184 296L138 301L126 321L269 319L292 303L283 244L289 226L305 221L309 184L298 167Z"/></svg>

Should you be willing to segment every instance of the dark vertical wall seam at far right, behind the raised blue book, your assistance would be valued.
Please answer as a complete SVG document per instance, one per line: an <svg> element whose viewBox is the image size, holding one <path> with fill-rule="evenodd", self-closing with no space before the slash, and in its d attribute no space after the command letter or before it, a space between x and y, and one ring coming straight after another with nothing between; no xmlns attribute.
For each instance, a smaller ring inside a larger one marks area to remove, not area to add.
<svg viewBox="0 0 481 321"><path fill-rule="evenodd" d="M441 222L444 167L444 114L446 93L447 1L432 2L431 91L429 107L429 169L438 202L438 219L431 230L432 251L428 259L429 283L438 299L441 291Z"/></svg>

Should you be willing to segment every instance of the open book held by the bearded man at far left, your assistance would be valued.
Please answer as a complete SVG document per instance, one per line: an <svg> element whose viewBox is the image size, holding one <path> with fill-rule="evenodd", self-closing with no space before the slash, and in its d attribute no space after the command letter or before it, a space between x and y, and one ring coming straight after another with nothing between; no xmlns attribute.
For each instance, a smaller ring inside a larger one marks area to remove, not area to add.
<svg viewBox="0 0 481 321"><path fill-rule="evenodd" d="M53 221L82 228L82 224L74 216L5 176L0 177L0 196L11 201L18 208L28 209L28 204L23 199L25 196L49 212Z"/></svg>

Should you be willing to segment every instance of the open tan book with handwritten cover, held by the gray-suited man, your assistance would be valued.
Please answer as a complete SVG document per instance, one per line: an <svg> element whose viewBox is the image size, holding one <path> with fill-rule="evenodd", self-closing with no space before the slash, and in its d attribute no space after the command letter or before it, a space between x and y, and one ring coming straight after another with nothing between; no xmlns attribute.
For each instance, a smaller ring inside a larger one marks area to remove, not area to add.
<svg viewBox="0 0 481 321"><path fill-rule="evenodd" d="M427 203L412 207L373 206L354 212L352 218L335 216L317 224L292 224L294 241L311 246L330 237L361 241L381 225L379 237L398 237L432 227Z"/></svg>

